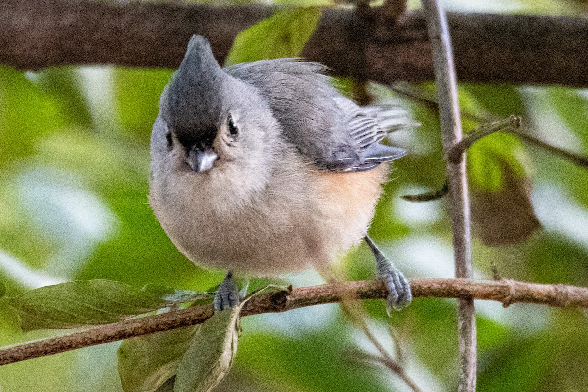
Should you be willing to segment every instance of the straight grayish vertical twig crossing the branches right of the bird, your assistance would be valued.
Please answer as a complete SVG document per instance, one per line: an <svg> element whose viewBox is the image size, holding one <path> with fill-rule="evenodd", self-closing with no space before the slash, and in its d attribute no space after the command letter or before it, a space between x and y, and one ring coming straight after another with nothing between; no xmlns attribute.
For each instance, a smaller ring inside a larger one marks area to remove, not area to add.
<svg viewBox="0 0 588 392"><path fill-rule="evenodd" d="M457 105L457 81L445 10L437 0L423 0L439 101L443 150L447 152L463 138ZM466 163L447 162L447 180L451 200L455 276L472 279L470 206ZM459 340L459 392L476 390L476 319L473 299L458 300L457 333Z"/></svg>

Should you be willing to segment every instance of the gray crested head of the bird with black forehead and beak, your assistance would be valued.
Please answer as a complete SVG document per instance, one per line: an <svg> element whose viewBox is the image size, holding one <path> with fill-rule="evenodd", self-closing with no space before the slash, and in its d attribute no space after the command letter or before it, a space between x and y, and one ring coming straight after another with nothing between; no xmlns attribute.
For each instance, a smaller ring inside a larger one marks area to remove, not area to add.
<svg viewBox="0 0 588 392"><path fill-rule="evenodd" d="M262 166L279 129L265 99L228 75L206 38L193 35L160 99L152 143L194 173L215 167ZM165 149L162 146L165 145Z"/></svg>

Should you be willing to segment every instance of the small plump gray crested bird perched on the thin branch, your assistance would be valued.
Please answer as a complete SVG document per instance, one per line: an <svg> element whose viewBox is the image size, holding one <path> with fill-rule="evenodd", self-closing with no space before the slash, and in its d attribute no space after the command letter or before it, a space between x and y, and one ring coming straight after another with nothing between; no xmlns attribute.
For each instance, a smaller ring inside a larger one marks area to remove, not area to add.
<svg viewBox="0 0 588 392"><path fill-rule="evenodd" d="M298 59L223 69L193 35L163 89L149 202L188 259L229 270L216 309L239 301L233 271L328 274L362 239L388 305L410 303L409 283L367 236L387 162L406 154L380 143L397 110L356 105L325 71Z"/></svg>

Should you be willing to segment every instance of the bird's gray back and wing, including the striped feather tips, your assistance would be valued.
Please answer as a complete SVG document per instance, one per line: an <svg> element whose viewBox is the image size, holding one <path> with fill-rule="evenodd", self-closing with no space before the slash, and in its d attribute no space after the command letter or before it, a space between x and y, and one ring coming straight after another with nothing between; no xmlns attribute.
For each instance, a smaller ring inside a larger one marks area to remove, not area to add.
<svg viewBox="0 0 588 392"><path fill-rule="evenodd" d="M321 169L369 170L404 156L405 150L380 143L386 135L380 120L396 117L398 110L356 105L333 88L325 71L323 65L296 59L226 68L260 91L285 138Z"/></svg>

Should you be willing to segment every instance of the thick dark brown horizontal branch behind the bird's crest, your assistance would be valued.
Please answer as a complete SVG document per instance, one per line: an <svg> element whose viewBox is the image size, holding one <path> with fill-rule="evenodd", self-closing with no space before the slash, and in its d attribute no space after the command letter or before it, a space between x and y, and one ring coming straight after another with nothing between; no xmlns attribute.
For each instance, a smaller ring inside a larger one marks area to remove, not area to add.
<svg viewBox="0 0 588 392"><path fill-rule="evenodd" d="M88 0L0 2L0 63L18 69L114 64L176 68L189 36L211 41L224 61L235 35L276 6ZM349 9L326 9L303 56L336 75L390 84L433 80L422 12L399 18L382 7L362 16L356 34ZM588 20L540 15L449 15L462 82L558 83L588 86ZM365 42L359 42L365 40Z"/></svg>

